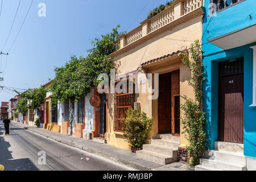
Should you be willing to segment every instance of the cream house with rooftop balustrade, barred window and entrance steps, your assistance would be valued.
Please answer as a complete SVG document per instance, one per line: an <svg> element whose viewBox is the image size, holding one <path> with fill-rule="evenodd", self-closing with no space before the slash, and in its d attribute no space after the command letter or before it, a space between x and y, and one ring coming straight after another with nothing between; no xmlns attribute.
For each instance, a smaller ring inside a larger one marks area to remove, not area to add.
<svg viewBox="0 0 256 182"><path fill-rule="evenodd" d="M203 1L172 2L166 10L151 19L145 19L134 30L122 35L120 48L112 53L117 76L111 80L115 93L108 94L106 140L108 144L130 149L122 133L122 117L129 107L139 107L152 119L151 134L143 150L136 155L142 159L168 164L178 160L187 161L186 145L180 118L184 115L180 104L193 98L188 85L191 72L182 63L180 53L201 39L203 24ZM129 77L129 78L128 78ZM155 79L156 78L156 79ZM158 85L150 83L158 80ZM151 79L151 80L150 80ZM138 92L122 84L133 82ZM118 89L126 88L119 93ZM150 88L159 88L152 93Z"/></svg>

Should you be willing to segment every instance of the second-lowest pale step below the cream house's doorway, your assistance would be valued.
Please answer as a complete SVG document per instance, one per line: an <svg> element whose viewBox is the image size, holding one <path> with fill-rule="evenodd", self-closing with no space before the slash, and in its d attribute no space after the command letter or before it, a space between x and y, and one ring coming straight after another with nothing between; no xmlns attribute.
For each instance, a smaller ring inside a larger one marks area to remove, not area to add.
<svg viewBox="0 0 256 182"><path fill-rule="evenodd" d="M143 150L177 158L177 149L175 150L173 148L155 146L154 144L143 144Z"/></svg>

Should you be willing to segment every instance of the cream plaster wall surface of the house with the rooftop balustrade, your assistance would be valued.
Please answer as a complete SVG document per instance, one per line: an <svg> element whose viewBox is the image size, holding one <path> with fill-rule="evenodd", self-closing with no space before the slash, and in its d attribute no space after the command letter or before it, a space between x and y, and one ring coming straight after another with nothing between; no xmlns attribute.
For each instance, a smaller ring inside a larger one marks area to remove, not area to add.
<svg viewBox="0 0 256 182"><path fill-rule="evenodd" d="M156 35L154 38L147 40L140 46L135 47L122 55L113 57L115 67L118 74L129 73L136 70L141 63L167 55L168 53L177 52L181 49L189 48L194 40L201 40L202 36L202 20L203 16L198 16L195 19L189 20L186 23L180 24L165 31L162 34ZM139 41L139 40L138 40ZM170 60L170 63L173 60ZM180 95L193 98L193 90L188 85L187 78L191 76L189 69L181 62L181 59L176 58L173 64L165 64L162 67L147 69L148 73L167 73L180 69ZM141 86L141 85L140 85ZM151 137L158 134L158 100L148 100L147 94L137 94L137 101L141 103L141 110L147 113L148 117L153 117ZM181 104L184 100L181 98ZM181 116L183 111L181 110ZM121 134L114 132L114 97L109 94L109 133L107 140L109 144L114 146L130 149L129 144L124 141ZM180 133L183 131L183 126L180 126ZM184 135L180 136L181 147L185 147L187 140Z"/></svg>

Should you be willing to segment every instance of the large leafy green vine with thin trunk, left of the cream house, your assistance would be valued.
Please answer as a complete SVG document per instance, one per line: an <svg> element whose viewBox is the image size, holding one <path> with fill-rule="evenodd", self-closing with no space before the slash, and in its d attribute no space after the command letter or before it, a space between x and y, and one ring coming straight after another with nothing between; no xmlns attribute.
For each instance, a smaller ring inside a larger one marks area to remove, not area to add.
<svg viewBox="0 0 256 182"><path fill-rule="evenodd" d="M70 99L69 113L71 113L71 135L73 123L73 101L86 96L90 89L98 85L100 73L110 74L113 68L112 58L109 56L117 51L118 44L115 40L123 34L118 32L119 26L112 32L101 35L92 42L92 48L88 50L88 56L71 56L68 63L63 67L55 68L55 78L51 80L49 89L52 93L51 101L57 104L59 101Z"/></svg>

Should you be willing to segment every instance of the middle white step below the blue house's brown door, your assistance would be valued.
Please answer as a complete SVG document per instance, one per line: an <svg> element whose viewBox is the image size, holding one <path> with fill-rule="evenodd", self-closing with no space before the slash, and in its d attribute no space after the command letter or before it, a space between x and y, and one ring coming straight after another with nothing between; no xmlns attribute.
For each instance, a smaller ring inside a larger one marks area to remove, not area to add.
<svg viewBox="0 0 256 182"><path fill-rule="evenodd" d="M205 158L221 160L228 163L236 163L246 166L246 158L243 154L237 152L228 152L220 150L205 151Z"/></svg>

